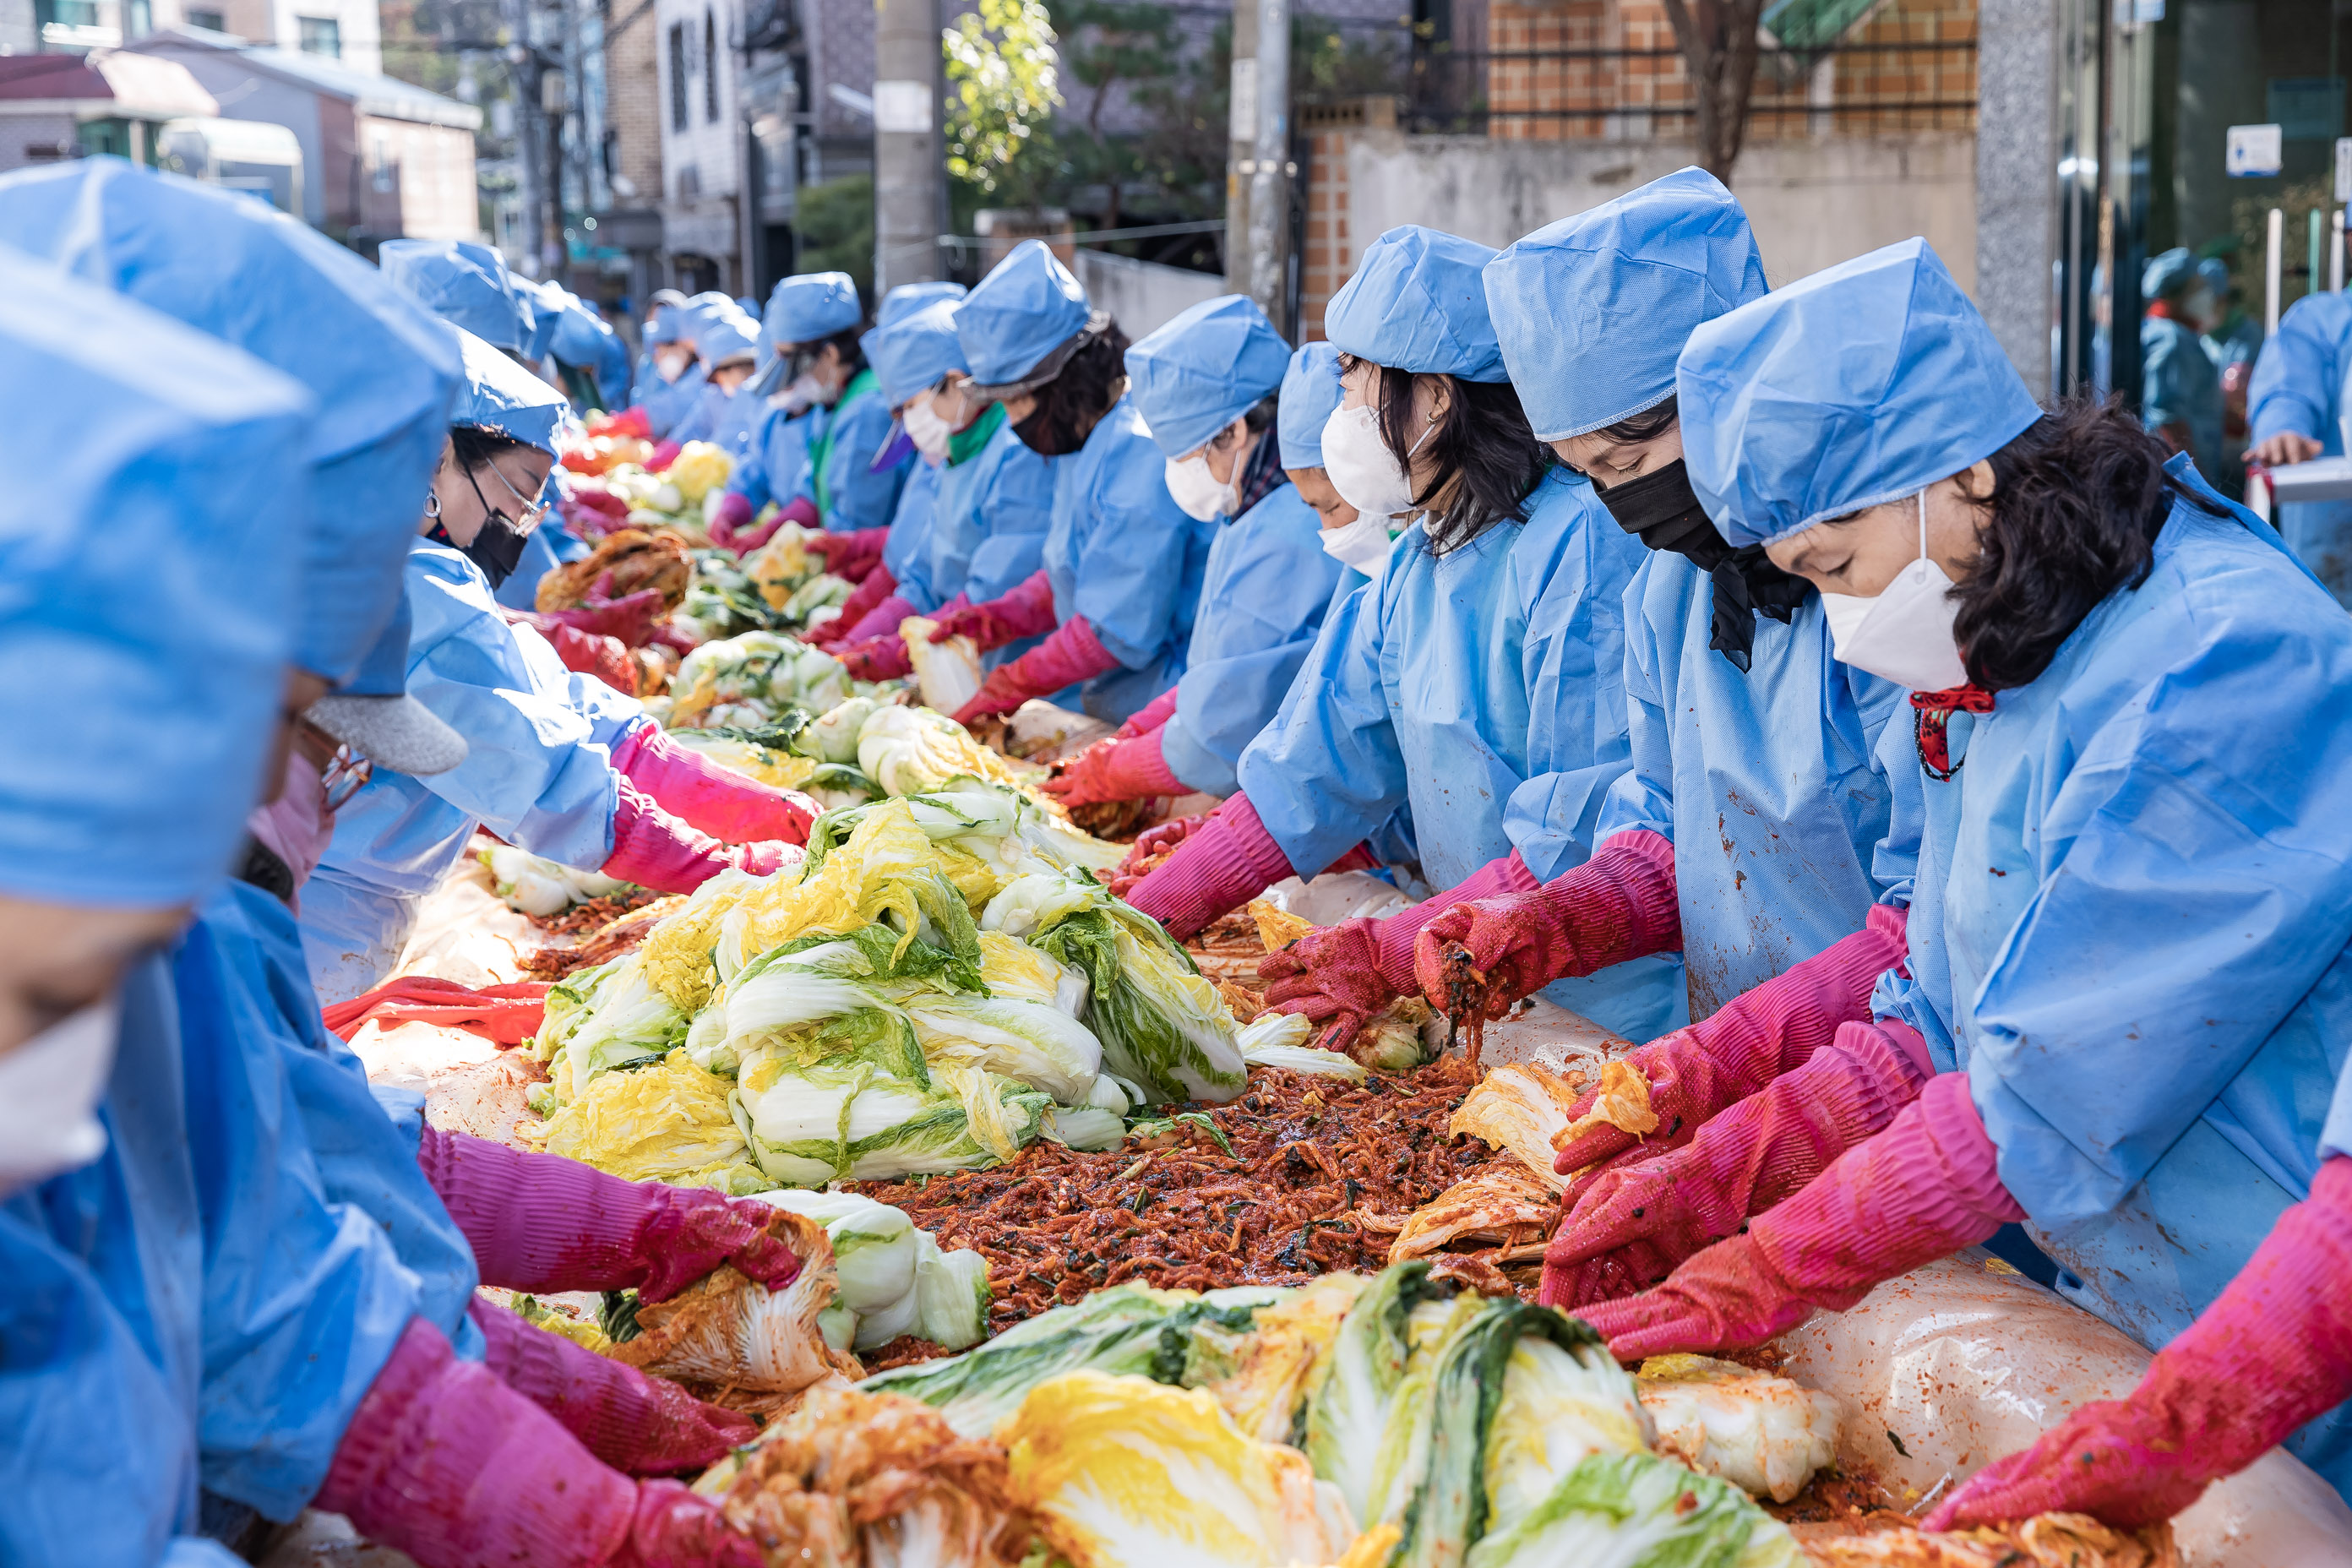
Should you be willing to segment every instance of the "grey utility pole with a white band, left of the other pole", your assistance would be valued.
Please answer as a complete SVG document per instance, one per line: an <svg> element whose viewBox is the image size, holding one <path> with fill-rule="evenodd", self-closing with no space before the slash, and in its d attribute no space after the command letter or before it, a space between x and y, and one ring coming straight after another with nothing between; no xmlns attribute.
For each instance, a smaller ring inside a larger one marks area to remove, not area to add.
<svg viewBox="0 0 2352 1568"><path fill-rule="evenodd" d="M875 0L875 301L941 275L938 0Z"/></svg>

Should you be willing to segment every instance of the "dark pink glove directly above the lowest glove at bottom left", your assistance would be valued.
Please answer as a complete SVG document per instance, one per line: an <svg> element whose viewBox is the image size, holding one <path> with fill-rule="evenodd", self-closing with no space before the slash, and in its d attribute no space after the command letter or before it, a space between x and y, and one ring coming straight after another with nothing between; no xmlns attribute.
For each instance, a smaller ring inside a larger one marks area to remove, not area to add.
<svg viewBox="0 0 2352 1568"><path fill-rule="evenodd" d="M466 1316L489 1345L482 1366L623 1474L703 1469L760 1434L760 1422L748 1415L703 1403L675 1382L534 1328L506 1307L475 1298Z"/></svg>

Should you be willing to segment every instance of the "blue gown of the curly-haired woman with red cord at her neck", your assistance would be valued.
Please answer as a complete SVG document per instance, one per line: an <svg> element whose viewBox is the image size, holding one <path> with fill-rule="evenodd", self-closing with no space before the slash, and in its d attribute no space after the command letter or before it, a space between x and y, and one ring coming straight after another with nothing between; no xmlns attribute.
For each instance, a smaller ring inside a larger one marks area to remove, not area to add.
<svg viewBox="0 0 2352 1568"><path fill-rule="evenodd" d="M2204 489L2187 458L2169 473ZM2060 1293L2159 1349L2310 1194L2352 1051L2352 623L2251 512L2154 569L1924 780L1912 978ZM1889 724L1889 762L1915 745ZM2352 1488L2345 1410L2296 1448Z"/></svg>

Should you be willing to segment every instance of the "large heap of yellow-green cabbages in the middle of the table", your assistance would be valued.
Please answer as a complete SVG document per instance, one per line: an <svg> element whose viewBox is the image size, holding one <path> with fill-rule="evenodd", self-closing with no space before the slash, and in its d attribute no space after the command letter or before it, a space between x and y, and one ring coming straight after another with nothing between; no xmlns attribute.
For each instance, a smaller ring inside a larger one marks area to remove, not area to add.
<svg viewBox="0 0 2352 1568"><path fill-rule="evenodd" d="M548 992L548 1150L748 1194L1115 1147L1131 1110L1242 1091L1216 987L1096 882L1120 846L969 773L901 792L934 778L941 724L962 736L873 712L858 764L891 797Z"/></svg>

